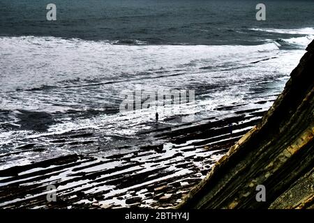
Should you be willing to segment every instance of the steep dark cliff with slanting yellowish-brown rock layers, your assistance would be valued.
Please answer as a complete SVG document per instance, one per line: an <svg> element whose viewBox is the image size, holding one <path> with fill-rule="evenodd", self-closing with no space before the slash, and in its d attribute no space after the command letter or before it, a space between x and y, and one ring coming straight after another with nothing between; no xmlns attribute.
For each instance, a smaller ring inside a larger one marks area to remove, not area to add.
<svg viewBox="0 0 314 223"><path fill-rule="evenodd" d="M262 120L177 208L314 208L314 41L306 51Z"/></svg>

